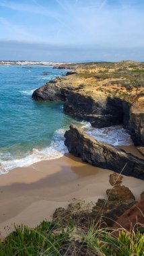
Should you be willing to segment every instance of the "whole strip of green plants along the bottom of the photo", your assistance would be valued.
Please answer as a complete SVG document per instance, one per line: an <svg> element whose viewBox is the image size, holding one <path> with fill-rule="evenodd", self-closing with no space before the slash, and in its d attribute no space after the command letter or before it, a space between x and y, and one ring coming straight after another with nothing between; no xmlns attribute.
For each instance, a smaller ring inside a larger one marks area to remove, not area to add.
<svg viewBox="0 0 144 256"><path fill-rule="evenodd" d="M144 236L140 232L92 225L87 232L81 231L77 240L71 224L63 229L55 222L43 221L35 229L15 227L14 232L0 241L0 256L143 256L143 244Z"/></svg>

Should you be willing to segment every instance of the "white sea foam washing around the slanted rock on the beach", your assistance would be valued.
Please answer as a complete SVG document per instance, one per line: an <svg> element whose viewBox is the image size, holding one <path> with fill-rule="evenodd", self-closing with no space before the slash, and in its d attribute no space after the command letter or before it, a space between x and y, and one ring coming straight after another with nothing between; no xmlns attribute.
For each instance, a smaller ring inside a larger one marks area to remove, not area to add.
<svg viewBox="0 0 144 256"><path fill-rule="evenodd" d="M114 146L126 145L129 146L133 144L131 137L126 130L124 130L120 125L115 125L106 128L94 128L90 123L82 121L77 124L81 127L88 135L98 139L100 141L110 143ZM12 159L9 161L0 162L0 174L5 174L9 170L22 166L30 166L35 162L40 162L42 160L50 160L55 158L61 158L65 153L68 153L67 147L64 143L64 133L67 127L62 129L57 129L52 136L52 141L50 146L43 149L33 149L28 155L20 159ZM1 157L1 156L0 156Z"/></svg>

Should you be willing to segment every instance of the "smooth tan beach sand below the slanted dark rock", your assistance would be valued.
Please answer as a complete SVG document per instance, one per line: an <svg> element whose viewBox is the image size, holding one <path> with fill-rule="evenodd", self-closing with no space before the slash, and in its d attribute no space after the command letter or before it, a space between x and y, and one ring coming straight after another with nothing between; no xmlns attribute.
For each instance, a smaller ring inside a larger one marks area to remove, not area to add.
<svg viewBox="0 0 144 256"><path fill-rule="evenodd" d="M141 156L135 147L124 150ZM73 198L94 202L106 198L110 173L67 154L0 175L1 236L9 234L14 223L34 227L44 219L51 220L55 209L65 207ZM122 184L139 200L143 181L124 176Z"/></svg>

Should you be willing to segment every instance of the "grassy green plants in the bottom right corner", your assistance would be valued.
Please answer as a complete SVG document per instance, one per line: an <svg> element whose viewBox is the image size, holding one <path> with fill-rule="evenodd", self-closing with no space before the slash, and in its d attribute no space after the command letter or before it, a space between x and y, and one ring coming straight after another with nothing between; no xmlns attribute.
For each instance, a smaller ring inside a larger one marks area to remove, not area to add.
<svg viewBox="0 0 144 256"><path fill-rule="evenodd" d="M114 236L114 232L119 232L119 235ZM141 232L90 228L83 241L87 248L100 256L144 256L144 236Z"/></svg>

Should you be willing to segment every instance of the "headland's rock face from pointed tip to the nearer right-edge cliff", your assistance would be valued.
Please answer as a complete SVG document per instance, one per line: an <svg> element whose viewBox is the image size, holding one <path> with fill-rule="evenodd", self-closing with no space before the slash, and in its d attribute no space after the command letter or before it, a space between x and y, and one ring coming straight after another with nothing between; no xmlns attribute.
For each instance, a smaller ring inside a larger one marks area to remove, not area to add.
<svg viewBox="0 0 144 256"><path fill-rule="evenodd" d="M87 95L83 84L71 86L67 79L57 78L45 84L33 92L32 98L42 102L63 101L66 114L89 121L94 127L109 127L122 123L122 100L107 97L102 92L95 97Z"/></svg>

